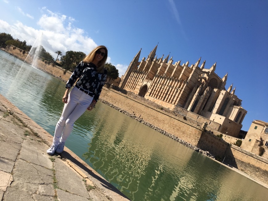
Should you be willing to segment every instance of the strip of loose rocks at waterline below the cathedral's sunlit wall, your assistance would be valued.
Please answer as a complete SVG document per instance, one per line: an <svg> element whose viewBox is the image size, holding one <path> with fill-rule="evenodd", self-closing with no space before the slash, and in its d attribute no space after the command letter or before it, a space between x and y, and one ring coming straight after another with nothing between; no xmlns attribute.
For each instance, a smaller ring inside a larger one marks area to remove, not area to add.
<svg viewBox="0 0 268 201"><path fill-rule="evenodd" d="M99 99L99 101L101 101L102 103L104 103L104 104L106 104L106 105L108 105L108 106L110 106L110 107L112 107L112 108L118 110L118 111L121 112L121 113L124 113L125 115L128 115L129 117L132 117L133 119L136 119L137 121L139 121L139 122L141 122L141 123L143 123L143 124L149 126L149 127L152 128L152 129L155 129L156 131L158 131L158 132L160 132L160 133L162 133L162 134L164 134L164 135L166 135L166 136L172 138L173 140L175 140L175 141L177 141L177 142L180 142L181 144L183 144L183 145L185 145L185 146L187 146L187 147L189 147L189 148L191 148L191 149L193 149L193 150L195 150L195 151L197 151L197 152L199 152L199 153L201 153L201 154L204 154L204 155L206 155L206 156L208 156L208 157L210 157L210 158L215 158L215 157L214 157L212 154L210 154L208 151L201 150L201 149L198 148L197 146L193 146L192 144L190 144L190 143L188 143L188 142L185 142L184 140L180 139L179 137L177 137L177 136L175 136L175 135L173 135L173 134L170 134L170 133L166 132L165 130L158 128L157 126L152 125L152 124L150 124L150 123L144 121L142 118L136 117L136 116L135 116L135 113L129 113L129 112L127 112L127 111L125 111L125 110L123 110L123 109L121 109L121 108L119 108L119 107L116 107L115 105L109 103L108 101L104 101L104 100L102 100L102 99Z"/></svg>

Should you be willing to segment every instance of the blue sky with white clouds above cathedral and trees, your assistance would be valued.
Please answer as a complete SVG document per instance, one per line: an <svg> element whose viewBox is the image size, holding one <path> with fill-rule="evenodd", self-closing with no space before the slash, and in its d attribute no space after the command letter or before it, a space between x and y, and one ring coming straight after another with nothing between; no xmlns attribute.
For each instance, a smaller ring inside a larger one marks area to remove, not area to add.
<svg viewBox="0 0 268 201"><path fill-rule="evenodd" d="M88 54L105 45L120 76L140 48L141 60L157 43L158 58L170 52L173 63L190 66L201 57L210 68L217 62L215 73L228 72L225 87L236 87L248 111L242 129L253 120L268 122L266 0L1 0L0 7L0 32L30 45L42 32L54 58L56 50Z"/></svg>

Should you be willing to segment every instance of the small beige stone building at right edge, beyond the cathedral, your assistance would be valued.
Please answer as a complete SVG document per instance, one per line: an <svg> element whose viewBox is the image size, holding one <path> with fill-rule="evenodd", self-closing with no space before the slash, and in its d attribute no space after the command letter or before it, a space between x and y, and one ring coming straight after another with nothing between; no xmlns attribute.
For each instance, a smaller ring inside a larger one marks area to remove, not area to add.
<svg viewBox="0 0 268 201"><path fill-rule="evenodd" d="M260 148L262 147L262 148ZM254 120L250 125L250 129L242 142L241 148L250 151L256 155L262 155L268 158L268 123L261 120Z"/></svg>

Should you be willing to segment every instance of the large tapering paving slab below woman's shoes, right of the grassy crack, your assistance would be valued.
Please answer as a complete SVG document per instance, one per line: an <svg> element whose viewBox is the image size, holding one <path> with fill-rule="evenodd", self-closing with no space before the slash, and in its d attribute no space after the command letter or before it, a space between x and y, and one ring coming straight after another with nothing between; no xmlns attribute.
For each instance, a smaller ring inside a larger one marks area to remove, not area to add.
<svg viewBox="0 0 268 201"><path fill-rule="evenodd" d="M54 166L56 179L60 189L89 198L85 183L74 170L66 166L60 159L55 160Z"/></svg>

